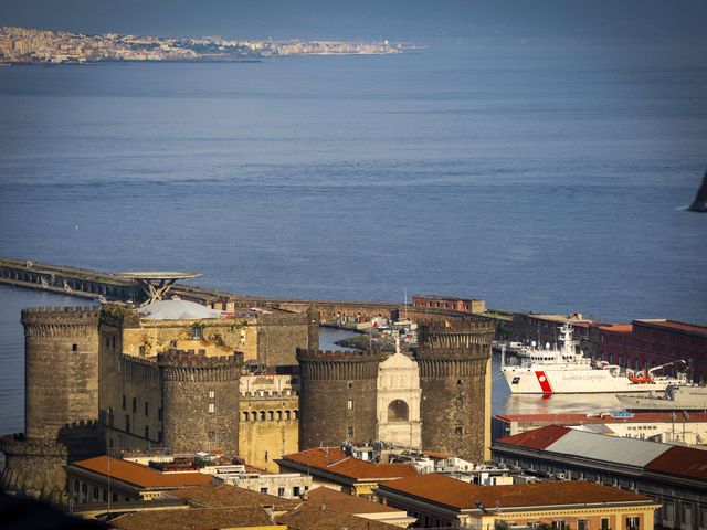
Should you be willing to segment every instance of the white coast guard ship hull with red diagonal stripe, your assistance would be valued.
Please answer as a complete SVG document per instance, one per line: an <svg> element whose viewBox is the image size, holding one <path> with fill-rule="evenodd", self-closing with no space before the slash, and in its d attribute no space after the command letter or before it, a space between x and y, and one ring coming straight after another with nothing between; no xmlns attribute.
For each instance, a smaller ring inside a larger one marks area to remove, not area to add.
<svg viewBox="0 0 707 530"><path fill-rule="evenodd" d="M668 384L684 384L684 380L674 378L654 378L652 382L634 383L625 375L590 367L535 364L504 367L502 372L513 394L663 392Z"/></svg>

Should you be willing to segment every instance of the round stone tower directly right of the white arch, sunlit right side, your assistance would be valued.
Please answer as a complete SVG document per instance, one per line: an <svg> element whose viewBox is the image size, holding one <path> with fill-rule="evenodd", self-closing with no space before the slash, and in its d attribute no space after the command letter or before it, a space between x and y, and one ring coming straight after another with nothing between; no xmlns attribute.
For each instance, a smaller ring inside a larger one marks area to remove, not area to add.
<svg viewBox="0 0 707 530"><path fill-rule="evenodd" d="M495 326L454 319L420 328L415 359L422 389L422 446L472 462L490 442L490 343Z"/></svg>

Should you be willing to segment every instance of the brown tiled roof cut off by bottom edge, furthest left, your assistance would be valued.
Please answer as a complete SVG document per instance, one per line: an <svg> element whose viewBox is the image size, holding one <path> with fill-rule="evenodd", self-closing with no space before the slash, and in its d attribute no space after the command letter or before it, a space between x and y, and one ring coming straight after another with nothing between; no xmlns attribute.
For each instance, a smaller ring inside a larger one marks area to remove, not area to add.
<svg viewBox="0 0 707 530"><path fill-rule="evenodd" d="M116 517L109 524L122 530L283 528L260 507L136 511Z"/></svg>

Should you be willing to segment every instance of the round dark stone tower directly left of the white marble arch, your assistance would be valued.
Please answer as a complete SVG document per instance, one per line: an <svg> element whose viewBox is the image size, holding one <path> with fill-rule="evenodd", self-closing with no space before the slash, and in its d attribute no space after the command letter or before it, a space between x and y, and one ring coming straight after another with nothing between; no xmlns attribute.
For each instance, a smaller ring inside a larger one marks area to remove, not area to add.
<svg viewBox="0 0 707 530"><path fill-rule="evenodd" d="M297 361L299 449L376 439L380 354L297 349Z"/></svg>

